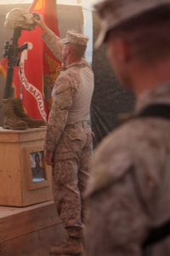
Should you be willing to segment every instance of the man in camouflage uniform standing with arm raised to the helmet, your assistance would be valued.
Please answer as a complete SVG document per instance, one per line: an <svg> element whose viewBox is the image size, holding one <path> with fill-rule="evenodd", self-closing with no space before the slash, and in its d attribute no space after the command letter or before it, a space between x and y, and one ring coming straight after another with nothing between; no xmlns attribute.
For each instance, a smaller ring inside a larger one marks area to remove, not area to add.
<svg viewBox="0 0 170 256"><path fill-rule="evenodd" d="M94 73L82 59L88 38L68 31L61 39L48 29L42 17L36 22L43 29L43 40L64 65L52 91L45 149L46 160L53 166L54 201L69 239L60 247L53 247L52 253L82 253L82 195L91 162L92 131L88 119L94 91Z"/></svg>

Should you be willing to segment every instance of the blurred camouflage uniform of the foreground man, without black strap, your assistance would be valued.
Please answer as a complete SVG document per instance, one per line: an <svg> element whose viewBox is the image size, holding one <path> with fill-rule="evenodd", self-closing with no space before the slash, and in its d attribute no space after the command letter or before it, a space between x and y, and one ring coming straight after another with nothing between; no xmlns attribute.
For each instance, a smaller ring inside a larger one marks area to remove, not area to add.
<svg viewBox="0 0 170 256"><path fill-rule="evenodd" d="M170 104L170 83L142 96L136 113L154 103ZM131 119L106 137L87 195L87 256L170 255L170 238L141 250L149 229L170 220L170 121Z"/></svg>

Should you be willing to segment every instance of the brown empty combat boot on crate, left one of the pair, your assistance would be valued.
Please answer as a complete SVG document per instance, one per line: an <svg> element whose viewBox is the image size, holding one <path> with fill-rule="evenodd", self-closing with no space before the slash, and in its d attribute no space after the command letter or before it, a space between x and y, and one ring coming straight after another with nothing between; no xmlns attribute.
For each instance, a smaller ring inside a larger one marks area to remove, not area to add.
<svg viewBox="0 0 170 256"><path fill-rule="evenodd" d="M3 128L10 130L25 130L28 125L14 113L13 98L3 99Z"/></svg>

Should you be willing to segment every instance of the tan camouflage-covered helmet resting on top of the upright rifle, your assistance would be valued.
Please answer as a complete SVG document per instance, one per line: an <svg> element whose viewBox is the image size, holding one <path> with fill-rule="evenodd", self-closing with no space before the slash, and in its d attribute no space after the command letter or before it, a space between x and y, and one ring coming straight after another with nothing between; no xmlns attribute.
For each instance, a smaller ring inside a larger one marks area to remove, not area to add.
<svg viewBox="0 0 170 256"><path fill-rule="evenodd" d="M20 27L26 30L32 30L35 28L35 22L33 15L26 11L26 9L14 8L11 9L6 15L4 26L9 29Z"/></svg>

